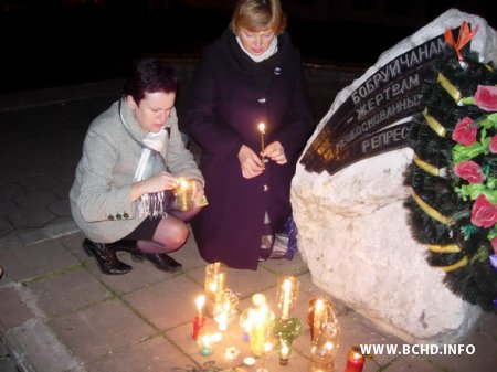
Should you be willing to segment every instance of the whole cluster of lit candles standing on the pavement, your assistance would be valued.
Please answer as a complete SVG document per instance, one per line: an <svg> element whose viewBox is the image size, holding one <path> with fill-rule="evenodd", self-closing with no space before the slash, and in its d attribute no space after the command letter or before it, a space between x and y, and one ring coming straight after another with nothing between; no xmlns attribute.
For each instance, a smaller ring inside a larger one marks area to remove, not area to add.
<svg viewBox="0 0 497 372"><path fill-rule="evenodd" d="M292 318L290 311L297 302L299 281L294 276L282 277L277 286L277 306L281 317L276 317L269 309L263 294L252 296L252 305L242 311L239 321L245 332L251 352L255 357L263 357L274 347L278 353L279 364L285 365L292 352L294 340L300 334L302 325L298 318ZM193 318L193 339L197 340L200 353L210 355L213 343L221 338L220 333L209 332L205 326L205 316L212 317L220 331L225 331L228 325L237 316L239 299L228 288L228 267L221 263L210 264L205 267L204 295L197 298L198 315ZM327 299L310 300L307 322L310 328L309 370L326 372L335 370L335 359L339 348L340 329ZM234 359L239 354L236 348L228 348L225 355ZM245 364L255 363L255 359L246 358ZM347 357L345 372L361 372L364 355L358 348L351 348ZM262 369L264 370L264 368Z"/></svg>

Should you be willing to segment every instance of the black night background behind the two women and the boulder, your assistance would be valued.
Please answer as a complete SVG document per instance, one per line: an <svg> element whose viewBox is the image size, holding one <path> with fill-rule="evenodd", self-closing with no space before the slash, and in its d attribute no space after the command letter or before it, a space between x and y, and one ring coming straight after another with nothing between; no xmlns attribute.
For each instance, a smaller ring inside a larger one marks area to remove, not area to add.
<svg viewBox="0 0 497 372"><path fill-rule="evenodd" d="M232 3L1 1L0 94L123 77L140 55L197 59L202 46L228 26ZM363 67L374 63L384 50L450 8L480 15L494 28L497 15L495 0L282 3L288 14L288 32L304 62L338 66ZM319 14L319 7L331 7L334 11ZM304 14L299 9L308 12Z"/></svg>

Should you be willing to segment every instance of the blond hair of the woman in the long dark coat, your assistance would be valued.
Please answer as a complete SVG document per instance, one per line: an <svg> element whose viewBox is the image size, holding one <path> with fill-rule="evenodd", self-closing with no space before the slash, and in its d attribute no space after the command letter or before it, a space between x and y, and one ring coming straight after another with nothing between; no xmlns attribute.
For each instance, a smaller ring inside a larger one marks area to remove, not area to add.
<svg viewBox="0 0 497 372"><path fill-rule="evenodd" d="M276 35L286 29L286 15L279 0L239 0L230 22L237 34L241 28L258 32L271 28Z"/></svg>

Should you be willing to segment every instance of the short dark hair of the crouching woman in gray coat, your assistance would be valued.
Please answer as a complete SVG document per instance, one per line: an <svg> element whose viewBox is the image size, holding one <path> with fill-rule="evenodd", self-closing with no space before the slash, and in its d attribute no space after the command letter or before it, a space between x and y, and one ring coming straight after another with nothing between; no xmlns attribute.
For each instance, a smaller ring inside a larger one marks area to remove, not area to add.
<svg viewBox="0 0 497 372"><path fill-rule="evenodd" d="M139 105L145 93L176 93L178 77L172 67L165 61L156 57L140 59L135 64L124 91L124 96L131 96Z"/></svg>

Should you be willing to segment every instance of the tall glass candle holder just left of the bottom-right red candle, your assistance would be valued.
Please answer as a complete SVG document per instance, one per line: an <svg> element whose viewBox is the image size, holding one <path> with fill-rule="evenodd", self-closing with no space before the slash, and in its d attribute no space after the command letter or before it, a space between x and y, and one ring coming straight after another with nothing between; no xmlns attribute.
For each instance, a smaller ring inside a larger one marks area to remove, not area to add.
<svg viewBox="0 0 497 372"><path fill-rule="evenodd" d="M321 298L311 299L307 322L310 328L311 362L332 371L340 347L340 328L331 302Z"/></svg>

